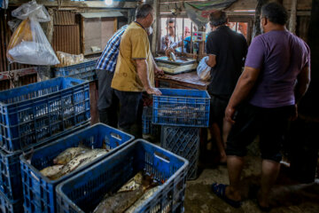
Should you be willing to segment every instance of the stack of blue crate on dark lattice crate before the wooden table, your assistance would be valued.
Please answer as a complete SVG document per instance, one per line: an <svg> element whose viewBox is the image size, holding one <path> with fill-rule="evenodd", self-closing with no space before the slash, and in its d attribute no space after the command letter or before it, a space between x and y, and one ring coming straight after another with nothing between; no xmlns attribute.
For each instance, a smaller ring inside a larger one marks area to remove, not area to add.
<svg viewBox="0 0 319 213"><path fill-rule="evenodd" d="M208 127L210 96L207 91L159 89L153 96L152 122L161 124L160 146L186 158L187 178L198 170L199 129Z"/></svg>

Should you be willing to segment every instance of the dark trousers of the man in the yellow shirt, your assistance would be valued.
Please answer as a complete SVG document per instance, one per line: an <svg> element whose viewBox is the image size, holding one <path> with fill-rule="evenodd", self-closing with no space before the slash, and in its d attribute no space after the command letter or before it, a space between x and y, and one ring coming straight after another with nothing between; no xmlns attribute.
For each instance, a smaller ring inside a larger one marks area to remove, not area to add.
<svg viewBox="0 0 319 213"><path fill-rule="evenodd" d="M114 91L121 104L119 128L134 135L136 138L141 138L143 112L142 92Z"/></svg>

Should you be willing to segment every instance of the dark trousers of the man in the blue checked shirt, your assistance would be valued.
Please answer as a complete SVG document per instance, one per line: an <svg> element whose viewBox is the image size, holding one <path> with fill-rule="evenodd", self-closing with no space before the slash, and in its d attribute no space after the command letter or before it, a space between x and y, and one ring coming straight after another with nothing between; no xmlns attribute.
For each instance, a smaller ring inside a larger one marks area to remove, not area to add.
<svg viewBox="0 0 319 213"><path fill-rule="evenodd" d="M97 70L98 79L98 116L99 121L114 128L118 126L117 110L119 107L119 99L116 97L111 83L114 73L108 70Z"/></svg>

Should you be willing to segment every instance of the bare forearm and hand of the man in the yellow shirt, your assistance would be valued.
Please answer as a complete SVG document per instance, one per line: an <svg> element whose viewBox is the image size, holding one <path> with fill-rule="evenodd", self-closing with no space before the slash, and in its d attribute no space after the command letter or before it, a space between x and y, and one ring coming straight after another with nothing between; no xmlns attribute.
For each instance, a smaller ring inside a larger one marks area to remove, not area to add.
<svg viewBox="0 0 319 213"><path fill-rule="evenodd" d="M141 82L143 83L143 86L148 94L156 94L156 95L161 95L161 92L153 88L151 86L149 76L148 76L148 67L147 67L147 62L146 59L136 59L136 69L137 69L137 74L139 78L141 79Z"/></svg>

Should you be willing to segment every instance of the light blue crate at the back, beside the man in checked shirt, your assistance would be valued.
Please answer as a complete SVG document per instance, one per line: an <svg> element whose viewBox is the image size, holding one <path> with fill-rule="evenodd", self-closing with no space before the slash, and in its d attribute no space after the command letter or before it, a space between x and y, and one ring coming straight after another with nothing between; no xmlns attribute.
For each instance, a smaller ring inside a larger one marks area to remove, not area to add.
<svg viewBox="0 0 319 213"><path fill-rule="evenodd" d="M96 64L97 59L90 59L89 61L85 61L76 65L67 67L55 67L53 71L56 77L69 76L93 81L97 79L97 74L95 72Z"/></svg>

